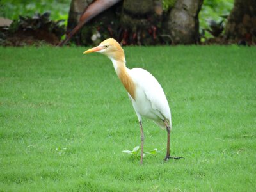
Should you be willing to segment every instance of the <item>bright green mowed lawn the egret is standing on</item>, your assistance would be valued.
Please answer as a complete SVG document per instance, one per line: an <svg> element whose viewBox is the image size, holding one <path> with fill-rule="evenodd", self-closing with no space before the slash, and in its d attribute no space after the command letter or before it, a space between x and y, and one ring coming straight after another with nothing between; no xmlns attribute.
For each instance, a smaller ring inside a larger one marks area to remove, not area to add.
<svg viewBox="0 0 256 192"><path fill-rule="evenodd" d="M86 47L88 48L88 47ZM255 191L256 48L124 47L172 111L140 127L111 61L83 47L0 47L0 191Z"/></svg>

